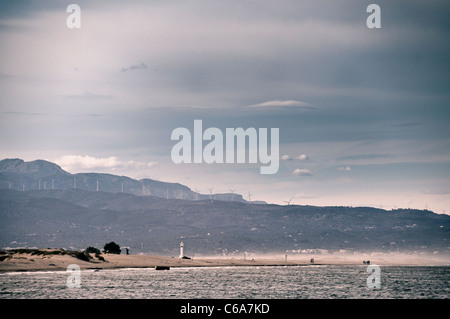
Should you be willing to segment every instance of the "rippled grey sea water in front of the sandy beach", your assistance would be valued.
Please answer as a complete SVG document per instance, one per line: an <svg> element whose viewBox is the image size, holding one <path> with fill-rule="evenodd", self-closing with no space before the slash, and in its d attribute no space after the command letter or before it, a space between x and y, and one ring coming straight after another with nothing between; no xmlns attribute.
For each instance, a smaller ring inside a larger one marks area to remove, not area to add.
<svg viewBox="0 0 450 319"><path fill-rule="evenodd" d="M381 266L368 288L367 266L204 267L0 274L0 299L36 298L438 298L450 297L450 267Z"/></svg>

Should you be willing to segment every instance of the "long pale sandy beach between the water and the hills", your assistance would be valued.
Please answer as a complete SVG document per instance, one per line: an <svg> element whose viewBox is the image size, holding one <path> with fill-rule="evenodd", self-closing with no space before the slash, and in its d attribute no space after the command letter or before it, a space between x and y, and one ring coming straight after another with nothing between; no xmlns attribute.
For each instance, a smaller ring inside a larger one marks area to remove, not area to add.
<svg viewBox="0 0 450 319"><path fill-rule="evenodd" d="M153 255L124 254L85 254L63 249L39 250L3 250L0 251L0 273L28 271L65 271L70 264L76 264L81 270L102 270L122 268L155 268L162 267L233 267L233 266L310 266L310 265L365 265L363 260L371 264L398 266L450 266L450 259L432 259L417 256L380 256L362 259L364 256L318 255L311 262L311 256L291 256L286 261L274 257L237 258L195 258L180 259L175 257ZM88 256L86 258L85 256ZM81 258L81 259L80 259ZM84 260L83 260L84 259Z"/></svg>

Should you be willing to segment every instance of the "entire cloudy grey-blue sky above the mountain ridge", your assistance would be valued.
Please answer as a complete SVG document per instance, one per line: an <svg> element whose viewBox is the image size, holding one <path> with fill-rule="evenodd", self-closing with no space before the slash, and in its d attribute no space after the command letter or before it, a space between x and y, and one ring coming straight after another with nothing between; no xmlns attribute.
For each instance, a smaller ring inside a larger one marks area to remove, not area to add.
<svg viewBox="0 0 450 319"><path fill-rule="evenodd" d="M1 1L0 158L448 214L449 14L445 0ZM196 119L279 128L278 172L173 163L171 132Z"/></svg>

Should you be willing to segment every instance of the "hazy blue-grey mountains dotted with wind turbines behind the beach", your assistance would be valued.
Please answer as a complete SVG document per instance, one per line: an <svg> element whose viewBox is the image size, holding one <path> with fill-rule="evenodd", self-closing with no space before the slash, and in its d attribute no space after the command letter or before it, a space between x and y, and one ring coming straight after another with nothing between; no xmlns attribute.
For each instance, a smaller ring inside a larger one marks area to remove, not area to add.
<svg viewBox="0 0 450 319"><path fill-rule="evenodd" d="M114 241L132 253L172 256L180 241L187 255L450 249L450 216L428 210L255 205L238 194L20 159L0 161L0 221L2 248Z"/></svg>

